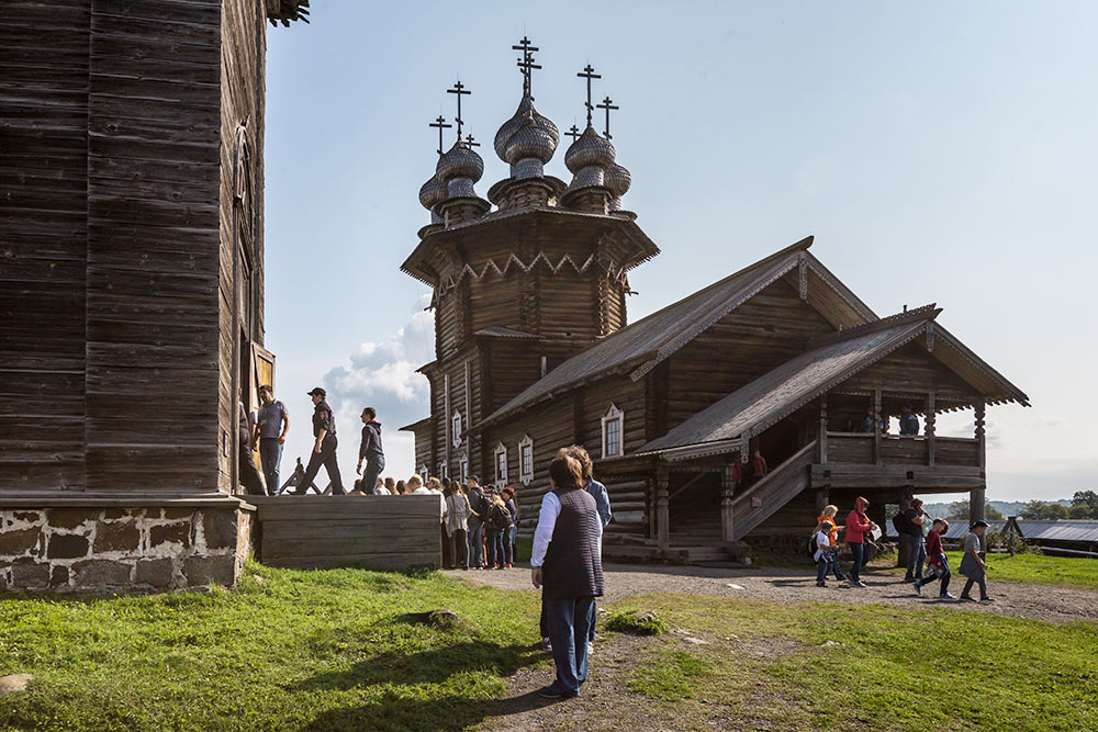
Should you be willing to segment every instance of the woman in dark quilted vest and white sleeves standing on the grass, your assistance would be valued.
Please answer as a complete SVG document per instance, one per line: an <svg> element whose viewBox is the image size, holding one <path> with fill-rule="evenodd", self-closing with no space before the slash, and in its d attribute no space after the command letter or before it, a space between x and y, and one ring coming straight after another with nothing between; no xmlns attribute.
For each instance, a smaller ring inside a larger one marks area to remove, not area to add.
<svg viewBox="0 0 1098 732"><path fill-rule="evenodd" d="M534 531L533 581L547 610L557 680L538 695L569 699L587 678L587 635L595 597L603 594L595 499L583 489L580 463L558 455L549 463L552 491L541 500Z"/></svg>

